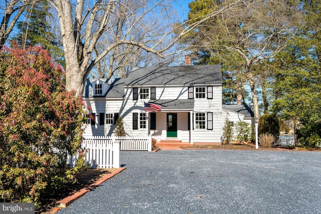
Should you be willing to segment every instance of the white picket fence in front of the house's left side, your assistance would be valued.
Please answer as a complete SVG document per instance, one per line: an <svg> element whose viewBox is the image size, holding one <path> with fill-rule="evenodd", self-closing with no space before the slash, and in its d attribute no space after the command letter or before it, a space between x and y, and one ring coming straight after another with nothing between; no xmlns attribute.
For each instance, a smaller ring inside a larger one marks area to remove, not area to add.
<svg viewBox="0 0 321 214"><path fill-rule="evenodd" d="M91 168L119 168L120 150L151 151L151 137L92 136L83 139L85 161ZM69 156L68 164L74 167L78 155Z"/></svg>

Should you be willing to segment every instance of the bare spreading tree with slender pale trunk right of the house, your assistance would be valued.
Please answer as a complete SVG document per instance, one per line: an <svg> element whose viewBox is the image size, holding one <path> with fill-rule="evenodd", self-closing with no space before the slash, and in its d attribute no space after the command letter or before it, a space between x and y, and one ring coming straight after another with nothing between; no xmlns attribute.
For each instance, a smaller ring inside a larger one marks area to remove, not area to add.
<svg viewBox="0 0 321 214"><path fill-rule="evenodd" d="M220 2L220 7L229 1ZM295 31L295 3L286 0L244 1L199 25L194 47L224 51L241 58L240 73L251 88L255 117L259 118L257 81L254 66L272 59L286 47Z"/></svg>

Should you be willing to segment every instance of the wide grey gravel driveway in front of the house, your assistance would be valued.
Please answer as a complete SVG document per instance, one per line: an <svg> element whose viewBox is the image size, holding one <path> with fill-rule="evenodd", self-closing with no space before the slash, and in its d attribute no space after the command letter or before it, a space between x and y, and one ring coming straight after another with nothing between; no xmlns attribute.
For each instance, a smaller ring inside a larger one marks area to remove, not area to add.
<svg viewBox="0 0 321 214"><path fill-rule="evenodd" d="M127 169L58 213L321 213L321 152L121 152Z"/></svg>

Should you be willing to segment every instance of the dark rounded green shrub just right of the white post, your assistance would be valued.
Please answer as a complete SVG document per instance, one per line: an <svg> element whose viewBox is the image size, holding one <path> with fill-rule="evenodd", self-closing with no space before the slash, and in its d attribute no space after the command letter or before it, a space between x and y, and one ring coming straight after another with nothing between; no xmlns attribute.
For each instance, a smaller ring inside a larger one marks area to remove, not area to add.
<svg viewBox="0 0 321 214"><path fill-rule="evenodd" d="M272 134L277 140L280 136L280 124L276 114L263 114L258 124L258 134Z"/></svg>

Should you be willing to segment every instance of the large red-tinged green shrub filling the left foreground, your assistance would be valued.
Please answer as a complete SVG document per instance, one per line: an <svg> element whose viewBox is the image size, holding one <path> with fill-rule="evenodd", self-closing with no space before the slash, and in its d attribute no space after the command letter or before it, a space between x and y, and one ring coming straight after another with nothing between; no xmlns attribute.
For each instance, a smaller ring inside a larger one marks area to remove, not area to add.
<svg viewBox="0 0 321 214"><path fill-rule="evenodd" d="M81 143L83 103L41 48L0 51L0 202L35 202L83 165L66 159Z"/></svg>

